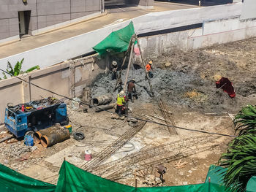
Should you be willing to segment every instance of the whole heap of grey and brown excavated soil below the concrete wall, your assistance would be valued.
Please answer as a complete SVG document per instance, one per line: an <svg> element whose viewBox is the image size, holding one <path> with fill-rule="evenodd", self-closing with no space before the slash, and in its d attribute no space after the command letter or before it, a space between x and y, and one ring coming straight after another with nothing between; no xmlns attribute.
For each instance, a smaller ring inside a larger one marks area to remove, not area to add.
<svg viewBox="0 0 256 192"><path fill-rule="evenodd" d="M256 66L251 65L255 59L256 44L253 42L256 39L245 42L188 52L173 49L170 53L153 58L156 68L151 78L154 98L148 94L149 87L143 69L130 69L128 80L136 80L138 101L157 103L156 98L161 97L173 106L204 112L237 112L244 104L255 104L256 96ZM231 49L232 45L239 49ZM121 74L123 82L125 74L126 70ZM216 77L227 77L233 82L236 98L231 99L222 89L215 88ZM94 96L112 93L115 99L118 94L113 91L115 85L116 80L111 80L111 74L101 75L94 82L92 93Z"/></svg>

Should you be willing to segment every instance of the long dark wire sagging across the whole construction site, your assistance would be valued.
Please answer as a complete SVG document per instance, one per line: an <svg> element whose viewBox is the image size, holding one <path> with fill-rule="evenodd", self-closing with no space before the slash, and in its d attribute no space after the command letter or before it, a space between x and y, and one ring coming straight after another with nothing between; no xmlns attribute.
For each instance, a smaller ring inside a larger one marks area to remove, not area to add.
<svg viewBox="0 0 256 192"><path fill-rule="evenodd" d="M5 73L7 73L7 74L10 74L9 72L4 71L3 69L0 69L0 70L1 70L2 72L5 72ZM10 75L12 76L12 74L10 74ZM23 79L20 78L20 77L17 77L17 76L14 76L14 77L18 78L19 80L22 80L23 82L27 82L27 83L29 83L29 84L31 84L31 85L34 85L35 87L40 88L40 89L42 89L42 90L44 90L44 91L48 91L48 92L53 93L53 94L55 94L55 95L57 95L57 96L62 96L62 97L64 97L65 99L69 99L70 101L76 101L75 99L69 98L68 96L63 96L63 95L61 95L61 94L59 94L59 93L56 93L56 92L54 92L54 91L50 91L50 90L48 90L48 89L46 89L46 88L42 88L42 87L40 87L39 85L36 85L36 84L34 84L34 83L32 83L32 82L28 82L28 81L26 81L26 80L23 80ZM86 103L83 102L83 101L76 101L76 102L79 102L79 103L81 103L81 104L84 104L84 105L87 105L87 106L91 107L90 104L86 104ZM105 112L109 112L109 113L111 113L111 114L114 114L114 113L115 113L115 112L111 112L111 111L109 111L109 110L105 110L105 109L100 108L100 107L98 107L98 108L101 109L101 110L103 110L103 111L105 111ZM125 116L125 117L128 117L128 115L124 115L124 116ZM131 116L130 116L130 117L131 117ZM135 118L135 119L137 119L137 120L141 120L141 121L144 121L144 122L148 122L148 123L155 123L155 124L158 124L158 125L161 125L161 126L174 127L174 128L178 128L178 129L182 129L182 130L187 130L187 131L200 132L200 133L203 133L203 134L216 134L216 135L220 135L220 136L224 136L224 137L236 137L235 135L219 134L219 133L208 132L208 131L201 131L201 130L192 129L192 128L184 128L184 127L178 127L178 126L170 126L170 125L167 125L167 124L165 124L165 123L156 122L156 121L154 121L154 120L145 120L145 119L137 118L137 117L132 117L132 118Z"/></svg>

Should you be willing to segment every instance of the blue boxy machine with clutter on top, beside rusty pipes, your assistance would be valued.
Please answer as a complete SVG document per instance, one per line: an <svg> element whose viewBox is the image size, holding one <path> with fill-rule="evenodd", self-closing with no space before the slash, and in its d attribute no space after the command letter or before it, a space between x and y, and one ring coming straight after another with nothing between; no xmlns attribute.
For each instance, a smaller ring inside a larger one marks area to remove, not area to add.
<svg viewBox="0 0 256 192"><path fill-rule="evenodd" d="M67 104L49 97L16 106L8 105L5 110L4 123L15 137L33 134L32 131L48 128L60 123L68 123Z"/></svg>

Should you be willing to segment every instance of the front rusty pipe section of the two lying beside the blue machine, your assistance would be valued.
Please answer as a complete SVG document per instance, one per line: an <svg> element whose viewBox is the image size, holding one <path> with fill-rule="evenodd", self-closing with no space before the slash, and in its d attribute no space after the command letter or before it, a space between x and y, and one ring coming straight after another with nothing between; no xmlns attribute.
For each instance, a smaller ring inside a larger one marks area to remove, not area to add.
<svg viewBox="0 0 256 192"><path fill-rule="evenodd" d="M46 134L41 137L41 145L43 147L50 147L55 145L58 142L63 142L66 139L69 139L70 134L67 128L59 128L56 131L52 131L49 134Z"/></svg>

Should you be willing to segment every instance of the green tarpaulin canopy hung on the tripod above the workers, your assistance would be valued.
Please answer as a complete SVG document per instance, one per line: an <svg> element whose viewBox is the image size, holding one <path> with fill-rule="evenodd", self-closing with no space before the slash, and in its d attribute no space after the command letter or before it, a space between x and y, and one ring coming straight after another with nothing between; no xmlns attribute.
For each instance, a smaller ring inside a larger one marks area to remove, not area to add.
<svg viewBox="0 0 256 192"><path fill-rule="evenodd" d="M107 50L121 53L128 49L129 41L132 35L135 34L132 21L125 28L121 28L118 31L113 31L108 37L99 42L93 47L99 55L103 55Z"/></svg>

